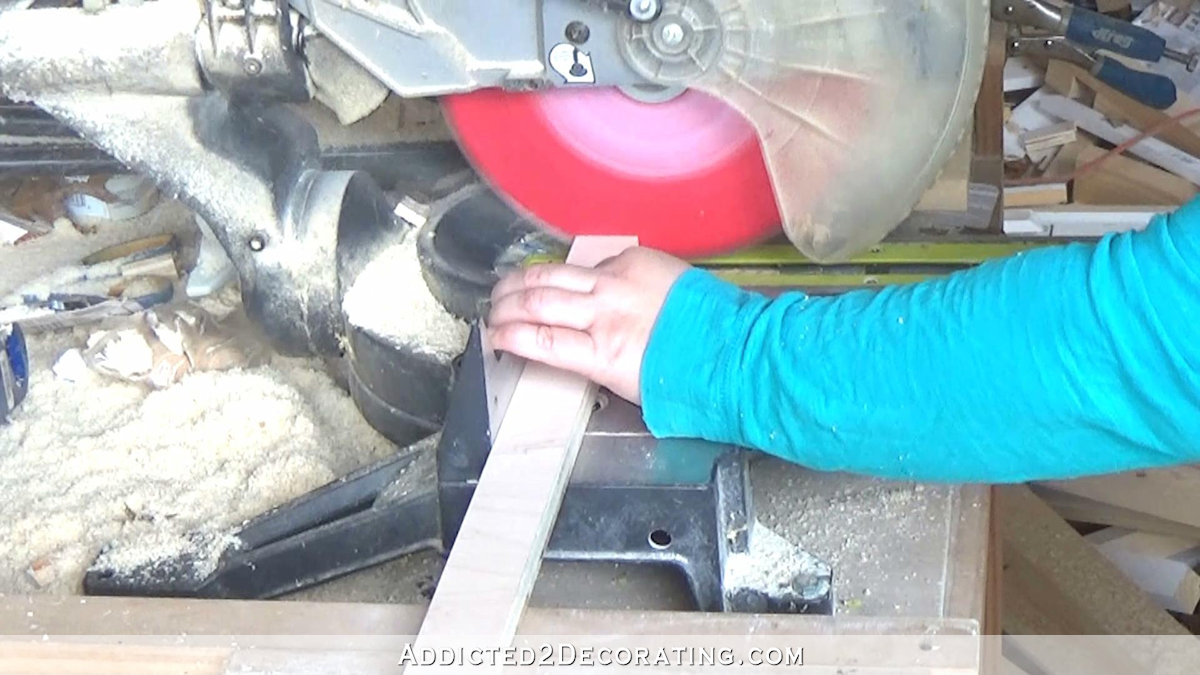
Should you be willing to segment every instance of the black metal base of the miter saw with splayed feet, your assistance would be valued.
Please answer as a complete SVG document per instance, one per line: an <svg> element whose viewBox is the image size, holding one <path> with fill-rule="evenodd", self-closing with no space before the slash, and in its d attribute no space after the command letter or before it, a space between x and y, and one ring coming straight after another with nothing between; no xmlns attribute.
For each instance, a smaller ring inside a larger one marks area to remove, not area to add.
<svg viewBox="0 0 1200 675"><path fill-rule="evenodd" d="M416 550L449 550L490 449L482 359L476 330L440 437L254 519L215 569L196 560L124 573L94 568L85 592L272 597ZM726 587L727 558L751 550L749 455L701 441L656 441L632 406L604 406L584 435L546 558L671 566L704 611L832 613L830 573L822 566L785 571L788 584L779 587Z"/></svg>

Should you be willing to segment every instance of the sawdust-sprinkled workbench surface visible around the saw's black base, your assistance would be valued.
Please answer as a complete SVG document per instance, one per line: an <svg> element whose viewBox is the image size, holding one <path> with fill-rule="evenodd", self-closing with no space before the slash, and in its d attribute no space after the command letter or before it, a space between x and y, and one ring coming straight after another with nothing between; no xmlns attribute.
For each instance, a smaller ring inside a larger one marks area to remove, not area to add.
<svg viewBox="0 0 1200 675"><path fill-rule="evenodd" d="M751 465L758 520L833 566L835 614L982 619L988 489L816 473L773 458ZM408 556L289 596L302 601L424 602L440 560ZM676 571L545 562L535 607L691 609Z"/></svg>

